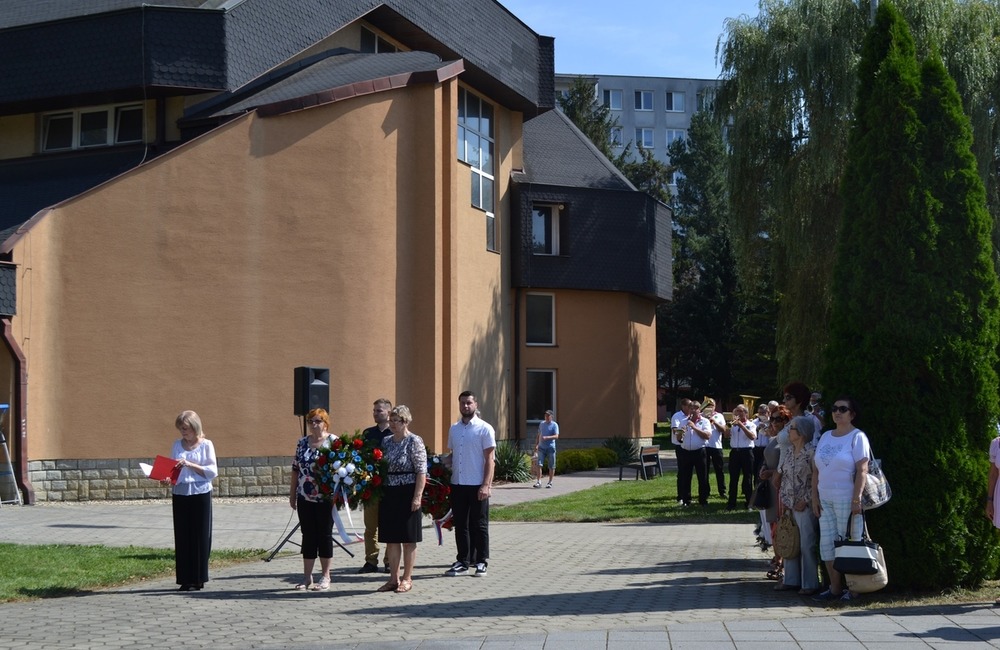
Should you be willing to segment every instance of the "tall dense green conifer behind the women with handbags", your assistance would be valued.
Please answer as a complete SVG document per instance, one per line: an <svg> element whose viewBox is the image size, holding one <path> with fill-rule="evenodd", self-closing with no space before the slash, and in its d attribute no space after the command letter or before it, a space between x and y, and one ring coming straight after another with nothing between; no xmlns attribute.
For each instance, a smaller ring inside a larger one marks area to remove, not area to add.
<svg viewBox="0 0 1000 650"><path fill-rule="evenodd" d="M995 421L998 288L968 120L940 61L879 5L858 67L824 385L862 404L893 483L874 535L906 587L996 568L981 497Z"/></svg>

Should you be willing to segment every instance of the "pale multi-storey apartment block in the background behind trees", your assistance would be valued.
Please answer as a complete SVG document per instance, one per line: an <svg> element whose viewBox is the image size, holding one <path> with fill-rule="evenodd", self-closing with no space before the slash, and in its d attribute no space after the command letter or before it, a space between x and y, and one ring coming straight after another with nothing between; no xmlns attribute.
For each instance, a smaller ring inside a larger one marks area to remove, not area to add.
<svg viewBox="0 0 1000 650"><path fill-rule="evenodd" d="M579 77L593 83L597 101L610 108L611 119L618 121L611 134L615 153L632 142L633 151L651 149L665 163L670 162L667 147L687 137L691 117L711 101L719 84L715 79L556 74L556 94L564 95ZM673 181L671 190L676 191Z"/></svg>

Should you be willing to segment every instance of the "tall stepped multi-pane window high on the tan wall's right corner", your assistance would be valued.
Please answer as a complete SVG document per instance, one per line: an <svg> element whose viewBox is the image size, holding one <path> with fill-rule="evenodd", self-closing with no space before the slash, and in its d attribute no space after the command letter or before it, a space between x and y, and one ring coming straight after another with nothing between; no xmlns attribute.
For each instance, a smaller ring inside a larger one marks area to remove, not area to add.
<svg viewBox="0 0 1000 650"><path fill-rule="evenodd" d="M493 105L458 89L458 159L472 171L472 206L486 213L486 249L498 250Z"/></svg>

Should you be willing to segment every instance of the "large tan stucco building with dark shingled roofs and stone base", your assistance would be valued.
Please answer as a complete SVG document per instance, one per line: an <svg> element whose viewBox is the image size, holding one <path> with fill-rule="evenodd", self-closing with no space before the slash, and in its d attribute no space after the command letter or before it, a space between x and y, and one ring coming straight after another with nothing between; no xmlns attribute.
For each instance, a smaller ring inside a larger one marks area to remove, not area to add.
<svg viewBox="0 0 1000 650"><path fill-rule="evenodd" d="M492 0L317 2L311 34L263 0L30 4L0 29L62 35L59 74L85 80L0 92L0 401L28 500L166 496L138 462L169 450L182 409L215 442L221 494L281 494L298 366L330 369L335 433L385 396L443 451L468 388L499 438L532 436L542 401L570 446L649 435L669 214L595 152L573 155L598 170L575 181L526 164L586 148L551 117L552 39ZM95 35L128 41L139 20L144 53L104 56L140 79L88 64ZM573 239L599 223L627 237ZM539 232L562 250L532 248ZM641 277L607 271L623 266Z"/></svg>

